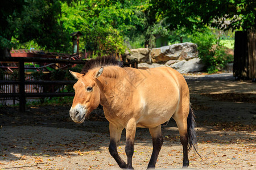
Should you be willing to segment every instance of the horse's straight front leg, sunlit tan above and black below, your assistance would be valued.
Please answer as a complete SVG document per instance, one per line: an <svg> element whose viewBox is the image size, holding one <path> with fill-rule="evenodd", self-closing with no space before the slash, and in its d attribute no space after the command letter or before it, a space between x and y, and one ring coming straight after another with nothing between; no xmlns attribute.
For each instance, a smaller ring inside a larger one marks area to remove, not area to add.
<svg viewBox="0 0 256 170"><path fill-rule="evenodd" d="M134 153L134 138L136 133L136 122L135 120L130 120L126 126L126 146L125 152L127 156L127 169L133 168L133 153Z"/></svg>

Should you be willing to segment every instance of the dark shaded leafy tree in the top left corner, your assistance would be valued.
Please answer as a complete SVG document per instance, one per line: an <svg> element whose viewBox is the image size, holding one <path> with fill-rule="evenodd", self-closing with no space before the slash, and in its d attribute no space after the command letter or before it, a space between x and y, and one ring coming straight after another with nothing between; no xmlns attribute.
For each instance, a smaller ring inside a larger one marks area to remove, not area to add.
<svg viewBox="0 0 256 170"><path fill-rule="evenodd" d="M70 3L70 1L67 1ZM34 40L49 50L64 51L68 33L60 22L61 3L53 0L10 0L0 4L0 54L10 49L11 40Z"/></svg>

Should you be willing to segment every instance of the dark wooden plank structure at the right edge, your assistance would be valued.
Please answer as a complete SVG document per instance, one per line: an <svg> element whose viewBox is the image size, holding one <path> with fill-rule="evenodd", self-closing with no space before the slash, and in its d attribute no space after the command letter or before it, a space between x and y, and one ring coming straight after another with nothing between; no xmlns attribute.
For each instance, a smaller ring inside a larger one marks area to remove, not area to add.
<svg viewBox="0 0 256 170"><path fill-rule="evenodd" d="M234 44L233 75L236 79L256 80L256 32L237 31Z"/></svg>

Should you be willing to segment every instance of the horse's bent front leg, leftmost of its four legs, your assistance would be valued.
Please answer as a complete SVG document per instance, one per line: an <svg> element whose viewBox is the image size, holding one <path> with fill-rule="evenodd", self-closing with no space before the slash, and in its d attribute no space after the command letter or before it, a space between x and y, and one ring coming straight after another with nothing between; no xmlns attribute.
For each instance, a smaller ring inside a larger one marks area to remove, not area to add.
<svg viewBox="0 0 256 170"><path fill-rule="evenodd" d="M109 124L110 131L110 144L109 144L109 152L110 155L113 156L117 164L120 168L127 168L127 164L122 160L117 152L117 144L121 138L123 128L118 128L113 124Z"/></svg>

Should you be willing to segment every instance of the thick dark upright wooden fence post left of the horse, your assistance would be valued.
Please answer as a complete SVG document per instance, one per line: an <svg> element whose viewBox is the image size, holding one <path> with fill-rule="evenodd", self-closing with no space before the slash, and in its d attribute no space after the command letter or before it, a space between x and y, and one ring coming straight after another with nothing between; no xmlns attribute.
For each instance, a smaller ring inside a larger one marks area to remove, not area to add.
<svg viewBox="0 0 256 170"><path fill-rule="evenodd" d="M19 62L19 111L25 112L26 109L26 97L25 97L25 70L24 61Z"/></svg>

